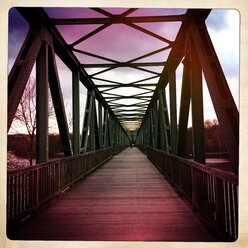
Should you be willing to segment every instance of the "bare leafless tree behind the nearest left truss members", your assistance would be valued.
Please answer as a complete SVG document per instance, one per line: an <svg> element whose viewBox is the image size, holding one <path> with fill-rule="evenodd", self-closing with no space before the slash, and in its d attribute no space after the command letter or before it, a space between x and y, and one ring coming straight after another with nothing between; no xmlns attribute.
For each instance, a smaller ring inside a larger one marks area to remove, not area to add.
<svg viewBox="0 0 248 248"><path fill-rule="evenodd" d="M54 108L49 96L48 115L50 118L54 118ZM53 125L53 124L51 124ZM11 129L15 133L20 133L22 129L28 134L28 160L30 166L33 165L33 157L35 151L35 139L36 139L36 81L34 78L30 78L27 82L26 88L22 95L21 101L17 108Z"/></svg>

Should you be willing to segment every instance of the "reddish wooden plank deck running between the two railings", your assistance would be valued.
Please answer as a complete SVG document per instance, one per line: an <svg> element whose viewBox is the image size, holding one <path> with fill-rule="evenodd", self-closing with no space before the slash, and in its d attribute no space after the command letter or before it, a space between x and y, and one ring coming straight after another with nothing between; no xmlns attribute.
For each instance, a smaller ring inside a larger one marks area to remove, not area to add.
<svg viewBox="0 0 248 248"><path fill-rule="evenodd" d="M137 148L126 149L63 193L11 238L215 241Z"/></svg>

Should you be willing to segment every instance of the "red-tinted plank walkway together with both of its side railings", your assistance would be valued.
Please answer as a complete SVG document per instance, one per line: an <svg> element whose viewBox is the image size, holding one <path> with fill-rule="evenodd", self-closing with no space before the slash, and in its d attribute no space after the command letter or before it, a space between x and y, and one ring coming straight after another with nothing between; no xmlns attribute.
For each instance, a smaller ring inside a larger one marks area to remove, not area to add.
<svg viewBox="0 0 248 248"><path fill-rule="evenodd" d="M153 148L146 151L157 168L134 147L113 158L106 149L9 173L10 223L35 211L10 228L9 238L219 241L237 237L235 175Z"/></svg>

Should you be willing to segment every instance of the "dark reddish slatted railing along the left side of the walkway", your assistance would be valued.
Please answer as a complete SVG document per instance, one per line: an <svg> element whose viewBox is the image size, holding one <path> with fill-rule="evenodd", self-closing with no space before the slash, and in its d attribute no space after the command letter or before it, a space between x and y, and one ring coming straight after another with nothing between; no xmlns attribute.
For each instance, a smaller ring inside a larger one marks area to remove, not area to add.
<svg viewBox="0 0 248 248"><path fill-rule="evenodd" d="M112 148L106 148L8 172L8 228L18 224L111 156Z"/></svg>

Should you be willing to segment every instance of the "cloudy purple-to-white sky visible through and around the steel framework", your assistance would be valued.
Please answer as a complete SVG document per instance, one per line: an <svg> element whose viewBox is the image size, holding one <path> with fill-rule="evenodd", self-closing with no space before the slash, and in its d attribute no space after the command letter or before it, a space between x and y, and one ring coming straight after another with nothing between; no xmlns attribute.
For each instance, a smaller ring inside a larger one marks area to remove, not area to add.
<svg viewBox="0 0 248 248"><path fill-rule="evenodd" d="M106 9L112 14L120 14L126 9ZM71 18L71 17L104 17L102 14L97 13L89 9L73 9L70 11L65 11L63 8L46 8L46 11L50 17L53 18ZM139 9L129 16L138 15L164 15L164 14L183 14L185 9ZM215 9L212 10L209 17L206 20L206 25L208 32L212 39L213 45L216 49L216 53L219 57L222 69L226 75L226 79L230 90L233 94L234 100L237 107L239 108L239 13L236 10L225 10L225 9ZM167 39L173 41L176 37L176 33L180 28L180 22L173 23L141 23L138 24L142 28L146 28L152 32L155 32ZM62 36L68 44L74 42L82 36L82 34L87 34L93 31L97 25L84 25L78 27L73 26L57 26L58 30L61 32ZM14 60L19 52L21 44L25 39L28 31L28 25L20 16L20 14L12 8L9 12L9 63L8 70L10 71ZM127 38L132 37L132 38ZM130 35L130 36L129 36ZM145 41L145 42L144 42ZM165 42L155 39L151 36L145 35L142 32L136 31L131 27L123 24L114 24L109 28L104 29L95 36L79 43L74 48L81 49L83 51L96 53L101 56L110 58L115 61L125 62L141 56L145 53L154 51L165 47L168 44ZM127 52L128 51L128 52ZM149 62L149 61L165 61L170 49L164 52L158 53L152 57L144 58L139 60L139 62ZM82 55L75 52L81 63L106 63L104 60L95 59L93 57ZM64 97L64 102L66 106L67 118L69 120L71 116L71 84L72 76L70 70L63 64L63 62L57 57L56 58L59 77L61 81L62 93ZM152 69L158 73L162 71L162 67L147 68ZM102 68L88 68L86 69L89 75L102 70ZM177 71L177 107L179 109L180 95L181 95L181 81L182 81L182 64L178 67ZM130 83L145 77L152 76L153 74L147 72L137 71L132 68L118 68L115 70L110 70L106 73L100 74L99 77L113 80L121 83ZM35 73L32 73L35 77ZM156 83L156 79L147 81L147 83ZM102 84L99 80L94 80L95 84ZM152 88L151 88L152 89ZM118 91L113 90L109 93L115 94L130 94L128 91ZM133 92L136 93L136 92ZM138 92L137 92L138 93ZM168 89L166 89L167 101L168 101ZM216 119L216 115L211 104L211 99L207 90L206 83L203 82L203 94L204 94L204 119ZM84 115L85 106L85 96L86 89L83 85L80 86L81 95L81 119ZM119 100L118 103L125 103L125 100ZM130 103L130 100L129 100ZM189 120L189 126L191 125L191 120ZM82 125L81 125L82 126Z"/></svg>

